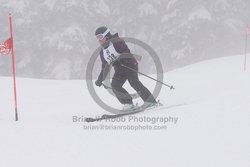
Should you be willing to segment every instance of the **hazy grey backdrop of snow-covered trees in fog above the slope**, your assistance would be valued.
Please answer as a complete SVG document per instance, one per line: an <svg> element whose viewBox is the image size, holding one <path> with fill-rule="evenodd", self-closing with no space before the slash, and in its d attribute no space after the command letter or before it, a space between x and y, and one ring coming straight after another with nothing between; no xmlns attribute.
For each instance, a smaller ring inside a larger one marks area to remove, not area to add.
<svg viewBox="0 0 250 167"><path fill-rule="evenodd" d="M18 77L84 79L88 61L99 46L95 29L103 25L111 33L148 44L165 72L243 54L250 1L2 0L1 43L9 37L9 13ZM151 55L136 44L129 47L142 57L140 71L155 73ZM99 71L97 60L93 75ZM0 75L11 75L10 56L0 56Z"/></svg>

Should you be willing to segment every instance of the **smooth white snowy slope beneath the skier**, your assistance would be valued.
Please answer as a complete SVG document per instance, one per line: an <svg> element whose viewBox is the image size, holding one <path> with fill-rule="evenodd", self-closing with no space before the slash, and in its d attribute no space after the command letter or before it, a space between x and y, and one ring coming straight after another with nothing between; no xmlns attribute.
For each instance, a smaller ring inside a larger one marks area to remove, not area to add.
<svg viewBox="0 0 250 167"><path fill-rule="evenodd" d="M76 123L73 116L107 113L92 100L85 81L24 78L17 79L20 121L15 122L12 79L0 77L0 166L249 167L250 68L243 71L243 56L193 64L164 79L176 87L162 89L159 99L166 108L136 118L176 118L176 123L129 122L128 117ZM121 107L106 90L96 90ZM162 129L84 129L105 125Z"/></svg>

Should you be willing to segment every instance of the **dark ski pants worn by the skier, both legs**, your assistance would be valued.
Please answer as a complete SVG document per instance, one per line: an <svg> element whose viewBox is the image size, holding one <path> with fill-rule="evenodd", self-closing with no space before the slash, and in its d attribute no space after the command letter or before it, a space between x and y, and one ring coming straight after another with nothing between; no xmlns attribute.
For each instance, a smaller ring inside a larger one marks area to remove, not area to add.
<svg viewBox="0 0 250 167"><path fill-rule="evenodd" d="M138 71L138 64L133 67ZM128 80L131 87L136 90L144 102L155 102L155 98L150 91L139 81L138 73L129 69L115 71L111 86L117 99L122 104L132 104L132 97L122 86Z"/></svg>

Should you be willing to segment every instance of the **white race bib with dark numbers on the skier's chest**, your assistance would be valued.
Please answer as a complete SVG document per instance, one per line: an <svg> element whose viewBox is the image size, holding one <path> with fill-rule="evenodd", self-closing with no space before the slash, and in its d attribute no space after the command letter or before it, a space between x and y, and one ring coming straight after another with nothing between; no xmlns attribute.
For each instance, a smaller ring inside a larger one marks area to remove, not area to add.
<svg viewBox="0 0 250 167"><path fill-rule="evenodd" d="M120 56L119 53L116 52L115 47L111 44L106 49L103 49L103 57L108 62L108 64L113 63Z"/></svg>

